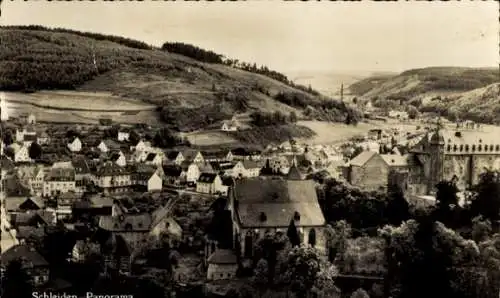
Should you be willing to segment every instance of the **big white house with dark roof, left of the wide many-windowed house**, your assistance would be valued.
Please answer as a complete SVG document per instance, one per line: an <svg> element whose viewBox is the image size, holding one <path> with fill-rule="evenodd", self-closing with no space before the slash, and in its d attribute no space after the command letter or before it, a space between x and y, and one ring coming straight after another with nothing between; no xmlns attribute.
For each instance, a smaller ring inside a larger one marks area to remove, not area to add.
<svg viewBox="0 0 500 298"><path fill-rule="evenodd" d="M43 196L55 196L59 193L76 191L74 168L51 168L43 183Z"/></svg>

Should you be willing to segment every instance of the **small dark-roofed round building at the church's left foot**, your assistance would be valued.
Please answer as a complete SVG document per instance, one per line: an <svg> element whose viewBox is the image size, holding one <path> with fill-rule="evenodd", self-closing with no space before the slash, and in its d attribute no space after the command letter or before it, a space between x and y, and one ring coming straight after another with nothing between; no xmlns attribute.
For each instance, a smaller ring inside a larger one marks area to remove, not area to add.
<svg viewBox="0 0 500 298"><path fill-rule="evenodd" d="M231 249L216 249L208 258L208 280L233 279L238 270L236 254Z"/></svg>

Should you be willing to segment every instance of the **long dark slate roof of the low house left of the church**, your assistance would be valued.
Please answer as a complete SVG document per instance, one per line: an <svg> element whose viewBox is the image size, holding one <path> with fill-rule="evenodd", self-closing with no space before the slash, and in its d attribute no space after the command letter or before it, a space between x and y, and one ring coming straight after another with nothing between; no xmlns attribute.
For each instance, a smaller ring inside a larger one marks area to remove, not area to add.
<svg viewBox="0 0 500 298"><path fill-rule="evenodd" d="M120 216L101 216L99 227L110 232L147 232L151 226L152 218L148 213L123 214Z"/></svg>

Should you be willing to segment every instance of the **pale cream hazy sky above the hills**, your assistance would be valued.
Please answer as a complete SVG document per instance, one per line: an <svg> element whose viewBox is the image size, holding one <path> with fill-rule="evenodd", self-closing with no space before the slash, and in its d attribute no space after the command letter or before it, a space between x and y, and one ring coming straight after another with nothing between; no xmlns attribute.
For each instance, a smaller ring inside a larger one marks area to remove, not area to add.
<svg viewBox="0 0 500 298"><path fill-rule="evenodd" d="M3 1L0 25L191 43L271 69L498 67L499 3Z"/></svg>

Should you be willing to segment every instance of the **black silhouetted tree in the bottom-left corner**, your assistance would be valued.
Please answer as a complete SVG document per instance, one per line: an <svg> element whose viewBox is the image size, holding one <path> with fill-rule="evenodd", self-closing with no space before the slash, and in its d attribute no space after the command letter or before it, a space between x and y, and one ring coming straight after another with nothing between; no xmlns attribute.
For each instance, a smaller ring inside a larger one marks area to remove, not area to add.
<svg viewBox="0 0 500 298"><path fill-rule="evenodd" d="M23 269L22 260L11 261L5 270L1 282L2 298L29 298L32 297L33 287L30 276Z"/></svg>

